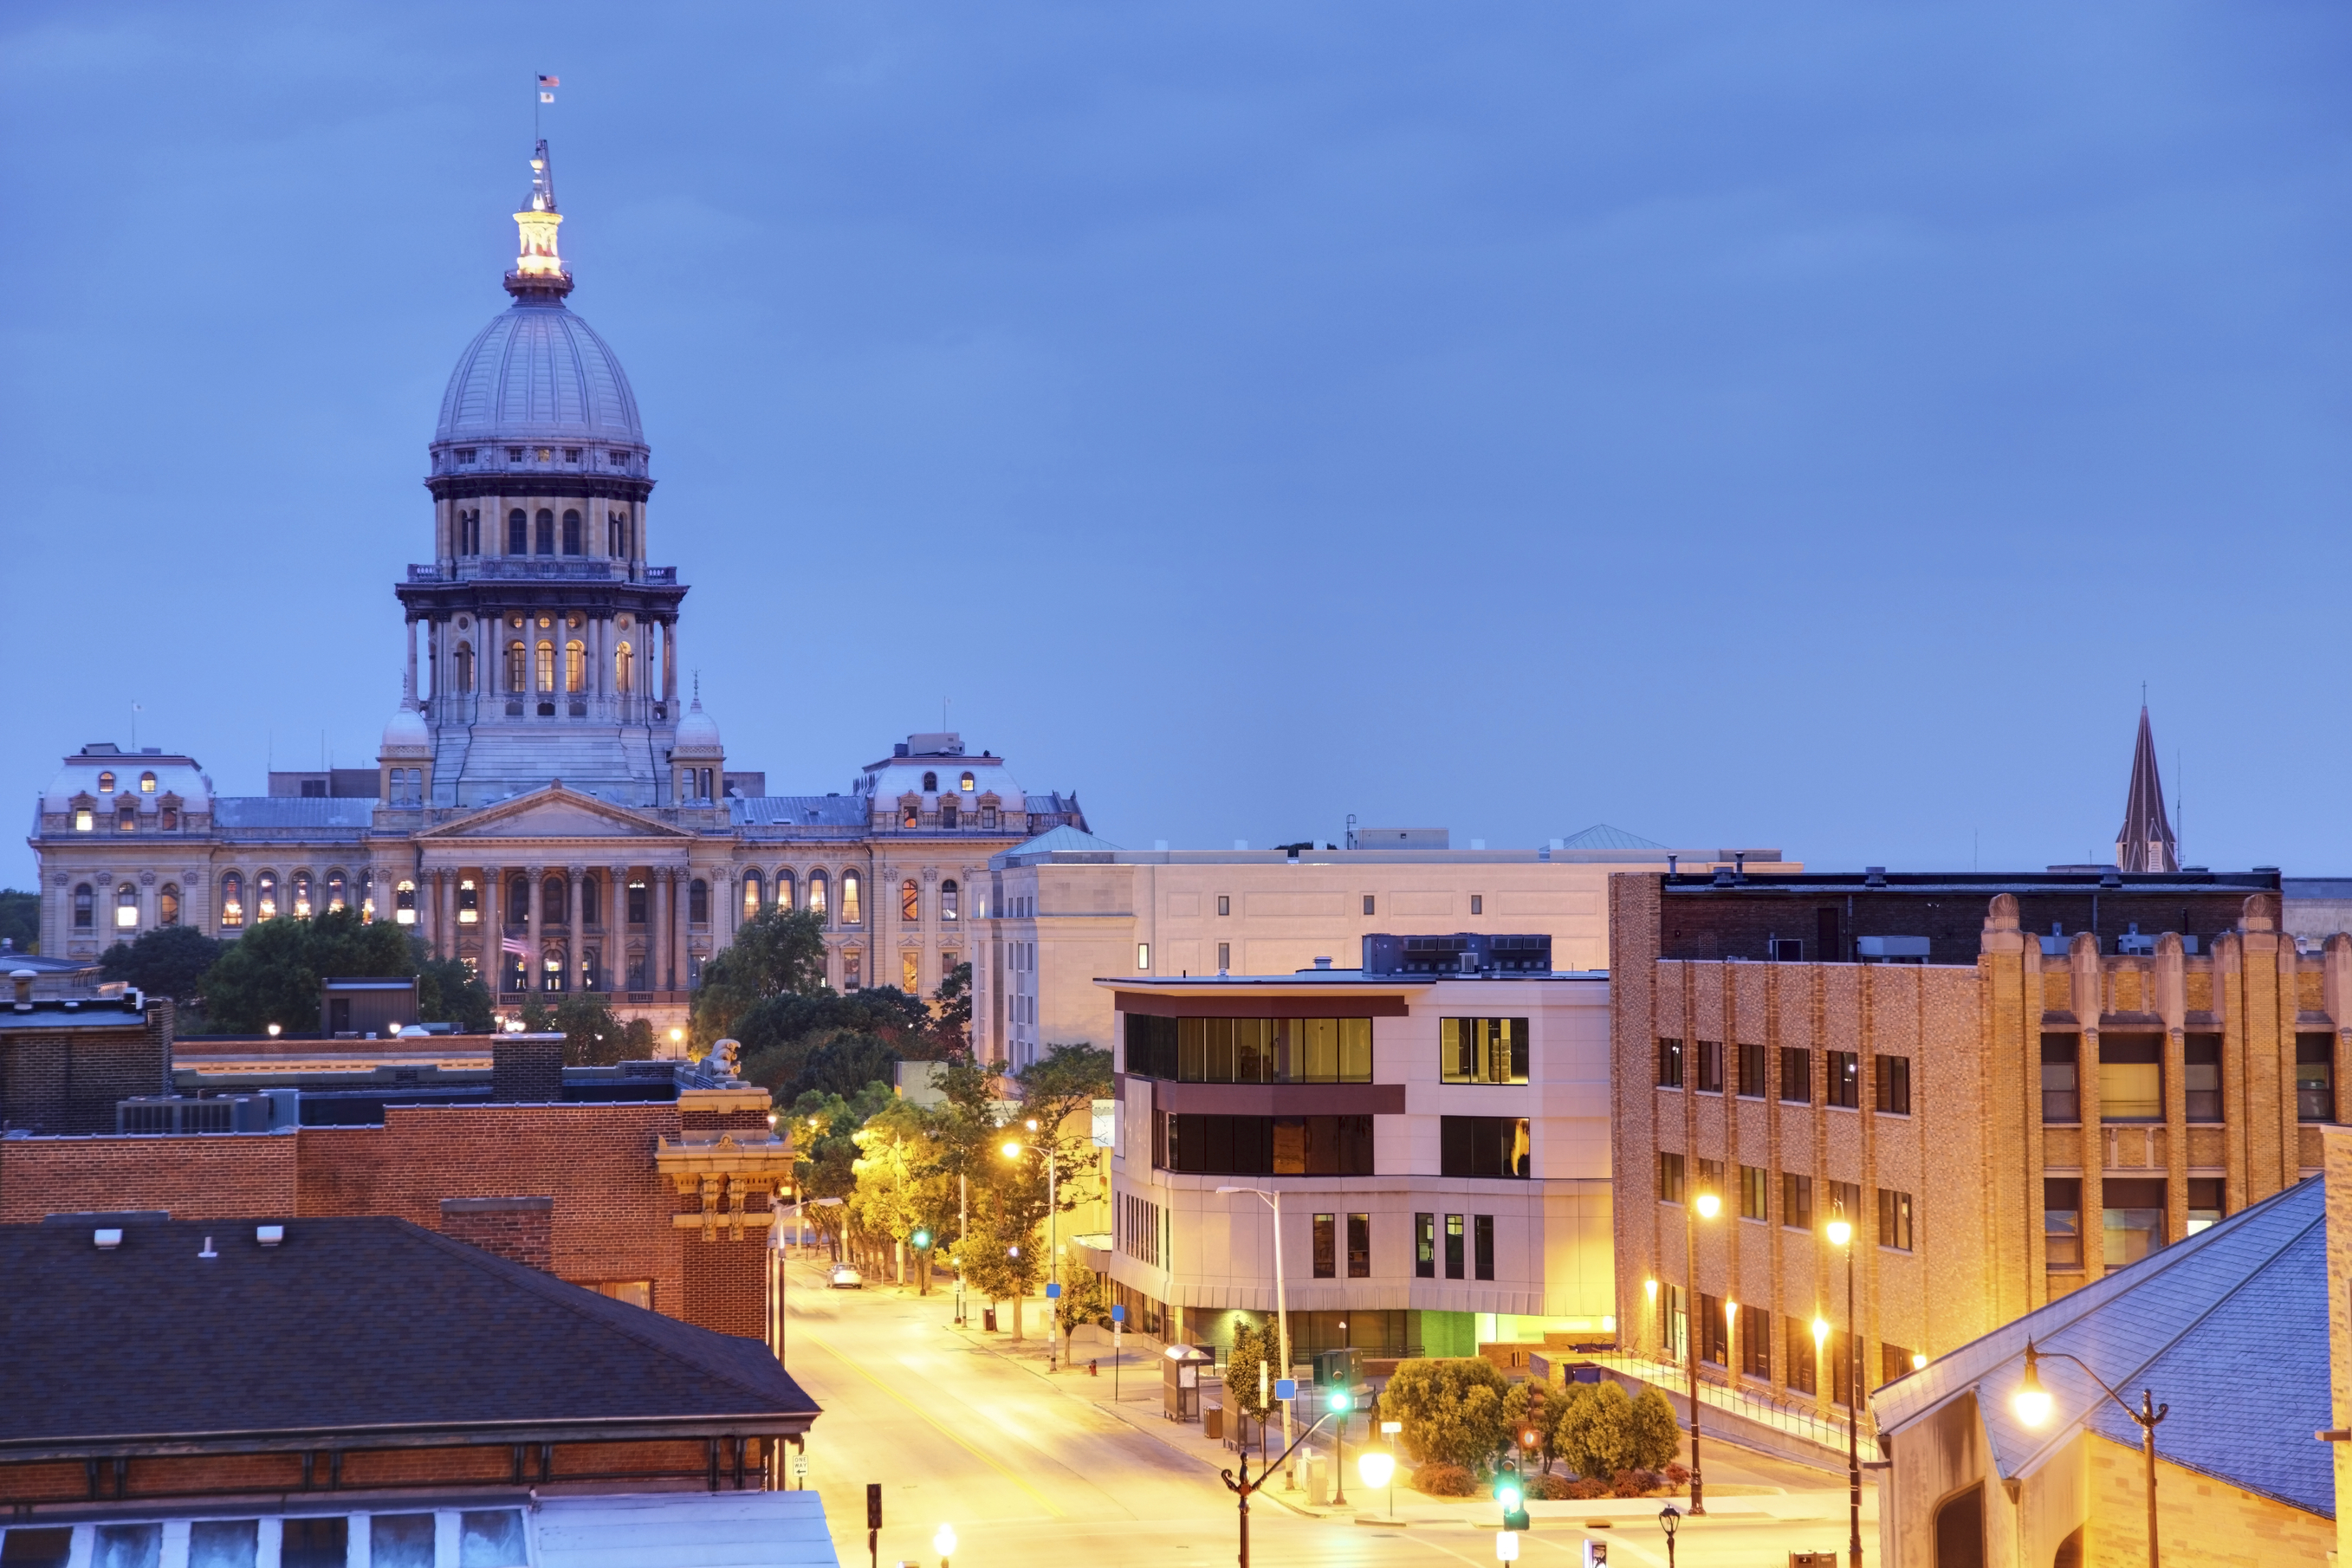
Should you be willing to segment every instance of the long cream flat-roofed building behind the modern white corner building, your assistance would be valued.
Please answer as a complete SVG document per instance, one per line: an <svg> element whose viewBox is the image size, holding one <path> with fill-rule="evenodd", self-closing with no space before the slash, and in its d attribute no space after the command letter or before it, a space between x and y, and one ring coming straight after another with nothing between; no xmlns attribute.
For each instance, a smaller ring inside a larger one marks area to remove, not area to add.
<svg viewBox="0 0 2352 1568"><path fill-rule="evenodd" d="M1451 849L1442 827L1348 837L1348 849L1120 849L1077 823L997 853L971 966L974 1041L1014 1067L1051 1044L1108 1046L1112 1004L1096 978L1352 969L1374 931L1529 931L1552 940L1559 969L1606 969L1611 872L1802 870L1778 849L1672 849L1616 827L1541 849Z"/></svg>

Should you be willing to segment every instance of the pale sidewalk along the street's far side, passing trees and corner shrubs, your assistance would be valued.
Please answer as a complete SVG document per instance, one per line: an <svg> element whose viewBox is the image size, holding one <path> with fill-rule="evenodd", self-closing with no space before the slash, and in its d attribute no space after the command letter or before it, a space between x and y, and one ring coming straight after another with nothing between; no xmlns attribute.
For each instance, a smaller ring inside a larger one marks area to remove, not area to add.
<svg viewBox="0 0 2352 1568"><path fill-rule="evenodd" d="M821 1262L793 1260L800 1272L807 1272L809 1284L821 1284ZM795 1284L800 1284L795 1279ZM964 1340L976 1352L1000 1356L1021 1366L1040 1382L1049 1382L1054 1392L1065 1399L1075 1399L1094 1406L1103 1415L1110 1415L1134 1432L1150 1436L1171 1453L1181 1453L1190 1460L1204 1465L1211 1474L1223 1469L1235 1469L1240 1455L1221 1441L1204 1436L1200 1422L1171 1422L1162 1418L1162 1378L1160 1378L1160 1342L1143 1335L1122 1335L1127 1342L1120 1349L1117 1363L1112 1361L1108 1345L1077 1345L1073 1347L1070 1363L1061 1371L1047 1371L1047 1326L1051 1314L1044 1300L1030 1300L1023 1307L1023 1333L1028 1338L1011 1338L1011 1314L997 1312L997 1333L985 1333L981 1328L981 1307L985 1302L969 1298L964 1300L969 1321L955 1326L950 1319L955 1314L955 1288L948 1284L946 1291L934 1284L929 1298L917 1298L913 1286L891 1286L882 1281L868 1284L868 1293L889 1293L901 1300L927 1300L938 1307L941 1328ZM1141 1340L1141 1342L1138 1342ZM1084 1368L1094 1361L1101 1366L1098 1375L1089 1375ZM1075 1371L1073 1371L1075 1368ZM1115 1375L1117 1373L1117 1375ZM1117 1399L1112 1389L1117 1387ZM1345 1505L1310 1505L1305 1479L1298 1479L1296 1490L1284 1490L1282 1481L1272 1481L1265 1490L1256 1493L1256 1502L1272 1502L1301 1519L1355 1519L1364 1526L1392 1526L1392 1528L1458 1528L1491 1533L1496 1528L1496 1505L1491 1497L1428 1497L1406 1486L1406 1476L1397 1474L1395 1488L1367 1490L1355 1474L1355 1453L1362 1448L1364 1420L1350 1422L1348 1441L1348 1472L1345 1472ZM1298 1458L1303 1460L1310 1450L1319 1450L1331 1458L1329 1434L1319 1434L1317 1441L1303 1446ZM1804 1519L1844 1519L1846 1514L1846 1488L1844 1483L1828 1486L1830 1476L1799 1467L1773 1455L1748 1453L1736 1443L1710 1436L1708 1439L1708 1516L1724 1519L1755 1519L1755 1521L1804 1521ZM1256 1448L1251 1448L1251 1469L1256 1469ZM1731 1479L1748 1476L1748 1479ZM1806 1486L1806 1481L1820 1481ZM1875 1502L1870 1495L1875 1488L1865 1490L1865 1500ZM1602 1523L1625 1526L1625 1523L1651 1523L1668 1502L1689 1509L1686 1500L1677 1497L1599 1497L1590 1502L1529 1502L1526 1512L1538 1526L1543 1521L1576 1521L1576 1523ZM1395 1514L1390 1514L1390 1505Z"/></svg>

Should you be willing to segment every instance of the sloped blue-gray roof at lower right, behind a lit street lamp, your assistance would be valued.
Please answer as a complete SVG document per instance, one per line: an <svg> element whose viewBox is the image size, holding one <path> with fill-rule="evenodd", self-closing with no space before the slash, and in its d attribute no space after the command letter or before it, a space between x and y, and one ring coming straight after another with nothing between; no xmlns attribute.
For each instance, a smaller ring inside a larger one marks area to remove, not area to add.
<svg viewBox="0 0 2352 1568"><path fill-rule="evenodd" d="M2018 1422L2011 1396L2027 1338L2082 1356L2133 1401L2145 1387L2169 1403L2157 1427L2166 1460L2336 1516L2336 1460L2328 1443L2312 1441L2333 1425L2321 1180L2288 1187L1886 1385L1870 1399L1879 1432L1893 1436L1973 1392L2004 1479L2039 1469L2084 1425L2138 1448L2140 1429L2072 1361L2042 1363L2056 1418L2039 1429Z"/></svg>

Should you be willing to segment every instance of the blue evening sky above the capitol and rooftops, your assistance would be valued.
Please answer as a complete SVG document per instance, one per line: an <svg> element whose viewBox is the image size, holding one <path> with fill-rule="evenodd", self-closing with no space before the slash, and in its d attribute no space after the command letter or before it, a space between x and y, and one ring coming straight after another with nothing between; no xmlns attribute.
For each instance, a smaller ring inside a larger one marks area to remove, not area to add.
<svg viewBox="0 0 2352 1568"><path fill-rule="evenodd" d="M729 762L2352 872L2340 5L0 12L0 806L367 764L562 75ZM2173 776L2176 755L2185 780Z"/></svg>

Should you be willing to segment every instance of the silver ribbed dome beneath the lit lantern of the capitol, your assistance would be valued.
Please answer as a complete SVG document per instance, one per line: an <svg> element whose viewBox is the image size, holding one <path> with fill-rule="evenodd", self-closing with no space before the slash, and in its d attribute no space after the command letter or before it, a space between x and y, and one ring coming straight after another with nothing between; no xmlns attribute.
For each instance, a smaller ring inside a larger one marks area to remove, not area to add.
<svg viewBox="0 0 2352 1568"><path fill-rule="evenodd" d="M459 355L433 444L644 447L621 360L564 303L517 299Z"/></svg>

